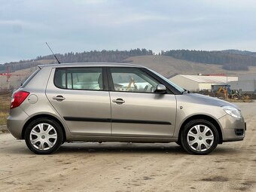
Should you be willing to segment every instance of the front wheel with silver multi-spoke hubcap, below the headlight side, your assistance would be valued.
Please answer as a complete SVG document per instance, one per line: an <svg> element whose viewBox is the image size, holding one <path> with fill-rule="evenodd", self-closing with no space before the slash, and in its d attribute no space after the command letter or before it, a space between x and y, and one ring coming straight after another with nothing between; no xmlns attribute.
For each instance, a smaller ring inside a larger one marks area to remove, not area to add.
<svg viewBox="0 0 256 192"><path fill-rule="evenodd" d="M191 120L181 130L181 145L190 154L209 154L218 141L218 130L208 120Z"/></svg>

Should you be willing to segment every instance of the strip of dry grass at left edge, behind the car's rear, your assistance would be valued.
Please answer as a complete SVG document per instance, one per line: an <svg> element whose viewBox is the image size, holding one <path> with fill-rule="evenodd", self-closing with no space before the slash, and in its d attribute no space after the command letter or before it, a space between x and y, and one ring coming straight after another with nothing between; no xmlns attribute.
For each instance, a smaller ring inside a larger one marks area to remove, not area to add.
<svg viewBox="0 0 256 192"><path fill-rule="evenodd" d="M0 125L6 124L6 119L9 115L10 95L0 95Z"/></svg>

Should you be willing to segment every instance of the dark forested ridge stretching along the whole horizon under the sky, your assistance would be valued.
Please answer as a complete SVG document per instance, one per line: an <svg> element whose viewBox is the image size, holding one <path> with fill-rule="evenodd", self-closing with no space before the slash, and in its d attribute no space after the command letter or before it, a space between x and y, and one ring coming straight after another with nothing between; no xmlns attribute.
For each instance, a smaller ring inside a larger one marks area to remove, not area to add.
<svg viewBox="0 0 256 192"><path fill-rule="evenodd" d="M82 53L56 54L60 62L130 62L130 57L151 56L152 50L92 50ZM167 50L160 53L162 56L172 56L175 59L187 60L195 63L218 64L222 69L230 71L248 70L248 66L256 66L256 53L241 50ZM170 58L171 59L171 58ZM0 65L0 72L14 72L42 64L56 63L53 55L38 56L36 59L22 60L20 62L9 62ZM143 61L139 64L143 65ZM159 63L160 68L164 63Z"/></svg>

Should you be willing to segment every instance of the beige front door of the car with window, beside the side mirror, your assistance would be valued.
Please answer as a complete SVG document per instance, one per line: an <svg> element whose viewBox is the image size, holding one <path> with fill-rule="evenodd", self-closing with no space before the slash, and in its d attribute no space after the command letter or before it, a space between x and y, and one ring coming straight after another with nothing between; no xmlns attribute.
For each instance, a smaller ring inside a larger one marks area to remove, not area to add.
<svg viewBox="0 0 256 192"><path fill-rule="evenodd" d="M109 69L112 136L172 137L176 99L154 93L160 82L139 68Z"/></svg>

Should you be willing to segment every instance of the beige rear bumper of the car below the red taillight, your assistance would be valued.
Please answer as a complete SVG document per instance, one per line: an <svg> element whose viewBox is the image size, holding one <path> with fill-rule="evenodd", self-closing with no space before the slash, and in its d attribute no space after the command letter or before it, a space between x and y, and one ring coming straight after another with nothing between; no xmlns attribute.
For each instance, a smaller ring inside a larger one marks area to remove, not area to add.
<svg viewBox="0 0 256 192"><path fill-rule="evenodd" d="M22 139L23 126L29 115L22 108L13 108L7 118L8 131L17 139Z"/></svg>

